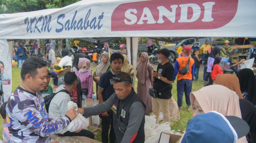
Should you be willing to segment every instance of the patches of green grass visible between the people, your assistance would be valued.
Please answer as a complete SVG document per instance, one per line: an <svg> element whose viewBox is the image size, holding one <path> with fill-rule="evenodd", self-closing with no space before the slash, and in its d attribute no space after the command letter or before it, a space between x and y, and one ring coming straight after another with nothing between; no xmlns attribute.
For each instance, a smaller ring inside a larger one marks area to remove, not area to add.
<svg viewBox="0 0 256 143"><path fill-rule="evenodd" d="M91 69L95 69L97 65L92 63L91 64ZM154 68L156 70L156 65L154 65ZM203 77L203 66L200 67L200 73L199 73L199 80L198 81L194 81L193 82L193 86L192 86L192 91L196 91L200 88L203 87L203 85L201 84L201 82L203 81L202 77ZM21 77L20 77L20 69L17 68L16 66L13 67L12 69L12 78L13 78L13 86L12 86L12 91L14 91L18 85L21 82ZM137 91L137 82L138 80L135 80L135 86L134 86L134 90ZM174 99L177 101L177 87L176 87L176 81L173 83L172 85L172 96L174 97ZM51 85L52 82L50 82ZM96 91L96 86L95 86L95 82L94 82L94 91ZM185 129L187 122L192 118L192 109L190 112L187 111L186 109L186 103L185 103L185 95L183 97L183 109L180 112L180 120L178 122L171 122L171 129L175 130L175 131L179 131L179 132L183 132L183 130ZM3 119L0 118L0 122L3 122ZM0 134L2 135L2 124L0 124ZM0 136L0 139L2 139L2 136ZM96 132L96 136L95 139L98 141L101 141L101 135L100 132Z"/></svg>

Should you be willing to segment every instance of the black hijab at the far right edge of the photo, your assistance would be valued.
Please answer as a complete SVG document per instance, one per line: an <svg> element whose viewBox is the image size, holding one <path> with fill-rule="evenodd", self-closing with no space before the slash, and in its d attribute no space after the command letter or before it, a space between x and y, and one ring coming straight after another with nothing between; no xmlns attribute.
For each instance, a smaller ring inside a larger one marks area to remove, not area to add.
<svg viewBox="0 0 256 143"><path fill-rule="evenodd" d="M244 68L236 76L239 79L241 92L248 92L247 99L253 105L256 105L256 78L253 71L249 68Z"/></svg>

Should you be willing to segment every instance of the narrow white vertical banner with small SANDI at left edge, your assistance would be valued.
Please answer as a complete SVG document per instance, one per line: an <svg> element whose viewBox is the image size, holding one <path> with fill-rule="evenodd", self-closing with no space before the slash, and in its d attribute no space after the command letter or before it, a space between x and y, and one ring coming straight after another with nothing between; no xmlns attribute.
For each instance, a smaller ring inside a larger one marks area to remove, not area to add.
<svg viewBox="0 0 256 143"><path fill-rule="evenodd" d="M11 95L11 73L12 64L9 45L6 40L0 40L0 90L4 91L4 102L6 102Z"/></svg>

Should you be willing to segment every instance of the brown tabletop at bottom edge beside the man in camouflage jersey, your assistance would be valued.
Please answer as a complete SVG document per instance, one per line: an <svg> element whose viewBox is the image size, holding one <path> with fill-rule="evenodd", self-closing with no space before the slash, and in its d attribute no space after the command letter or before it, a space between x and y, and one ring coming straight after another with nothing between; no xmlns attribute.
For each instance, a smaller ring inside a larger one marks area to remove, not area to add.
<svg viewBox="0 0 256 143"><path fill-rule="evenodd" d="M54 141L60 141L60 143L100 143L100 141L86 136L58 136L56 134L51 135L51 143Z"/></svg>

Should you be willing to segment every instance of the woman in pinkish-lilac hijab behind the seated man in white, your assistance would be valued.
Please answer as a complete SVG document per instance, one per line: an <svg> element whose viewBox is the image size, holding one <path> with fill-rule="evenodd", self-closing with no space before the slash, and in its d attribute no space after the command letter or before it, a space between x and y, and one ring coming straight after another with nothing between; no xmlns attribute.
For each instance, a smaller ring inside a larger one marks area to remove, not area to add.
<svg viewBox="0 0 256 143"><path fill-rule="evenodd" d="M81 82L81 88L87 88L88 94L86 97L92 97L93 95L93 75L90 70L91 61L86 58L79 58L78 68L79 71L76 72L76 75L79 77Z"/></svg>

